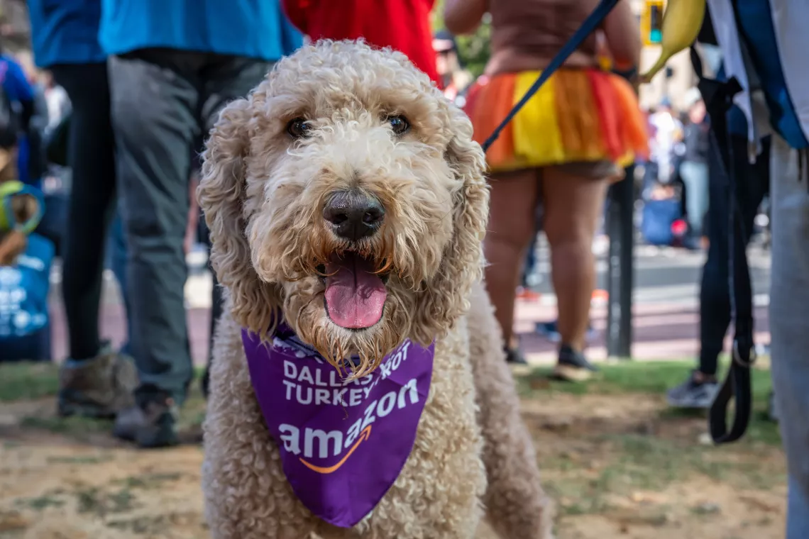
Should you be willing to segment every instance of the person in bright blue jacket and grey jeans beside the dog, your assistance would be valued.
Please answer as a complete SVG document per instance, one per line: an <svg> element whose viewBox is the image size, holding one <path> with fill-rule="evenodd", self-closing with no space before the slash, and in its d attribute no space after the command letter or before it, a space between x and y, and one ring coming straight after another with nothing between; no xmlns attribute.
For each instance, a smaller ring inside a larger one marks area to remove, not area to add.
<svg viewBox="0 0 809 539"><path fill-rule="evenodd" d="M121 213L129 246L137 405L114 434L176 443L193 368L184 309L189 149L303 36L278 0L102 0Z"/></svg>

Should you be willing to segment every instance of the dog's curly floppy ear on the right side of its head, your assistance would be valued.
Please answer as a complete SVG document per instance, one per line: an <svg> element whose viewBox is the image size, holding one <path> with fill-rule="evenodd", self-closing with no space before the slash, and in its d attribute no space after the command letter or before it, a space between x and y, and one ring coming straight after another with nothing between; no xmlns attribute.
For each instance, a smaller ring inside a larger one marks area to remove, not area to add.
<svg viewBox="0 0 809 539"><path fill-rule="evenodd" d="M419 297L415 338L431 343L444 335L469 309L472 284L483 274L483 236L489 220L489 187L483 149L472 141L472 123L459 108L449 107L453 137L445 158L460 188L454 194L452 240L444 250L438 276Z"/></svg>

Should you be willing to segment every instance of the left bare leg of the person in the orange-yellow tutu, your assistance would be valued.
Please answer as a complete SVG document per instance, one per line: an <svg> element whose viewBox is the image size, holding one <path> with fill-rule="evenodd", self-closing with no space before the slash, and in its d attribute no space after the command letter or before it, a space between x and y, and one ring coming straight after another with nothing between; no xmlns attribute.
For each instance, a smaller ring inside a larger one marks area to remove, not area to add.
<svg viewBox="0 0 809 539"><path fill-rule="evenodd" d="M511 343L514 301L525 250L535 233L534 214L539 189L537 171L493 175L489 231L484 242L486 289L506 345Z"/></svg>

